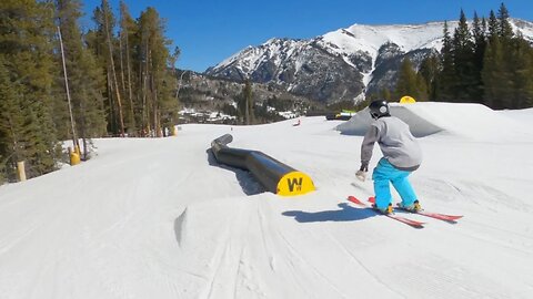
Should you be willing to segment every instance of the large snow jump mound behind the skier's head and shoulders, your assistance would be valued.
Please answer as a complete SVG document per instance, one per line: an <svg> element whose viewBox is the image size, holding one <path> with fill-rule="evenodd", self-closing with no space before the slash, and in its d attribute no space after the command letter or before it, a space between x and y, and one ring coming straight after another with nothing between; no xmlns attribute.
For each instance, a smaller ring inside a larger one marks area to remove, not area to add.
<svg viewBox="0 0 533 299"><path fill-rule="evenodd" d="M409 124L415 137L439 133L474 140L505 140L530 134L513 118L481 104L391 103L391 114ZM346 135L364 135L371 122L366 107L336 130Z"/></svg>

